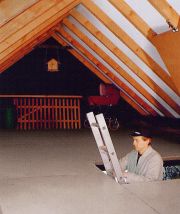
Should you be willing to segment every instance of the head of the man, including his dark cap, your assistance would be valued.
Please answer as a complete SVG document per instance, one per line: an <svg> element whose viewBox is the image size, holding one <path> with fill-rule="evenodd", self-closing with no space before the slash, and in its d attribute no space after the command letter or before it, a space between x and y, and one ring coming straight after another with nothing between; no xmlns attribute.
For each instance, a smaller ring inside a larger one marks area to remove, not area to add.
<svg viewBox="0 0 180 214"><path fill-rule="evenodd" d="M131 133L135 150L143 154L151 143L151 133L149 130L137 130Z"/></svg>

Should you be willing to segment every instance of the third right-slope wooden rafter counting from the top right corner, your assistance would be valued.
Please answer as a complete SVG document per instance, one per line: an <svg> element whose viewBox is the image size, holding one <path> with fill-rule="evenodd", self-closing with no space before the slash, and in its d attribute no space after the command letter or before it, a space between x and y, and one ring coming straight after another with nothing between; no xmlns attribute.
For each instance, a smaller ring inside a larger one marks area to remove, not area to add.
<svg viewBox="0 0 180 214"><path fill-rule="evenodd" d="M154 71L173 91L177 91L171 77L139 46L131 39L111 18L108 17L92 1L82 0L83 5L99 19L117 38L131 49L151 70Z"/></svg>

